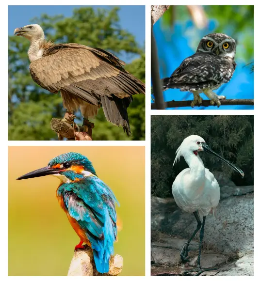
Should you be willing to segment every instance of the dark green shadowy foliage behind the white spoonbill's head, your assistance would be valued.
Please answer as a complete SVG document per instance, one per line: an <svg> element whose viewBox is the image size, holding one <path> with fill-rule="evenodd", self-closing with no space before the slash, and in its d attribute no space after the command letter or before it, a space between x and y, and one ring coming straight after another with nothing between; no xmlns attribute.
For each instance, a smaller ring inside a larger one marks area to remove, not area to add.
<svg viewBox="0 0 260 281"><path fill-rule="evenodd" d="M237 186L254 182L253 115L153 115L151 116L151 194L172 196L176 176L188 168L181 157L173 166L175 152L190 135L202 137L217 154L241 168L244 179L223 161L201 152L204 165L213 174L220 171Z"/></svg>

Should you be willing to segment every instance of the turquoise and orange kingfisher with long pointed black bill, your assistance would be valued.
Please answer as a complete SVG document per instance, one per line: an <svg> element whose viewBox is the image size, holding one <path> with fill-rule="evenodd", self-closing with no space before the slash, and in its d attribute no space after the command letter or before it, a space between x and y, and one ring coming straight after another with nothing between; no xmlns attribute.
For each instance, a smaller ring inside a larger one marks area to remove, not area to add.
<svg viewBox="0 0 260 281"><path fill-rule="evenodd" d="M97 177L92 162L80 153L69 152L49 161L47 167L29 172L17 180L54 175L60 179L56 196L81 241L75 250L93 251L97 271L109 271L117 236L116 200L113 191Z"/></svg>

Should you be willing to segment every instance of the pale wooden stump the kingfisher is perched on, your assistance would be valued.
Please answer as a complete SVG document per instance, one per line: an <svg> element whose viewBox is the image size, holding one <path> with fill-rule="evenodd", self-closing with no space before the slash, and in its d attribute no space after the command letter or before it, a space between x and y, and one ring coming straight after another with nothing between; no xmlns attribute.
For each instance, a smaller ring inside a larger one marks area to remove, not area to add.
<svg viewBox="0 0 260 281"><path fill-rule="evenodd" d="M91 248L85 246L84 250L75 250L69 266L67 276L117 276L123 268L123 258L112 256L109 261L109 272L99 273L94 262Z"/></svg>

